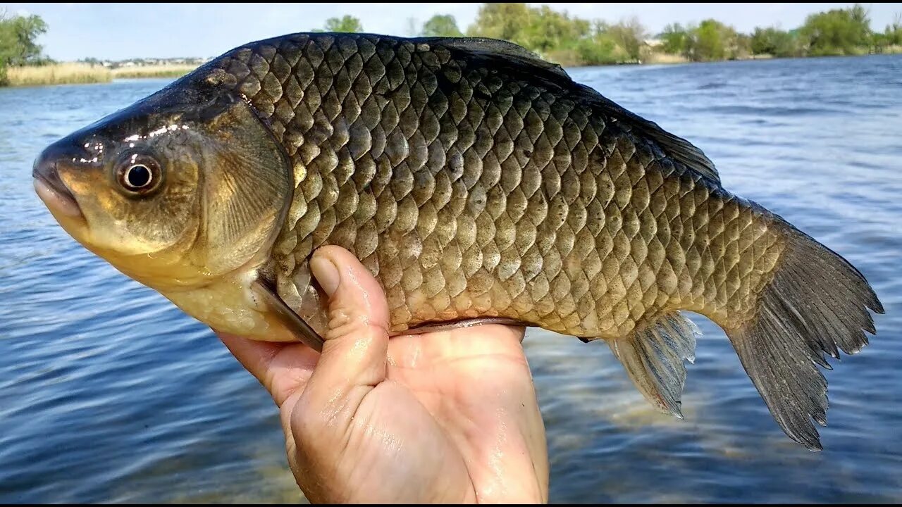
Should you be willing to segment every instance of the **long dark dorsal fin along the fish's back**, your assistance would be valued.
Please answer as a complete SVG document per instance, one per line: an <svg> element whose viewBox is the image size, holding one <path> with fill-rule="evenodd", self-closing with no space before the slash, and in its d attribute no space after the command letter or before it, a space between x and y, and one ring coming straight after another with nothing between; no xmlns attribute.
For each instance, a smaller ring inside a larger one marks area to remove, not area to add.
<svg viewBox="0 0 902 507"><path fill-rule="evenodd" d="M657 143L658 147L671 159L683 163L690 171L695 171L714 183L719 184L721 181L717 169L714 168L714 162L692 143L670 134L658 124L650 122L640 115L630 113L594 88L575 83L560 65L541 60L536 53L520 45L495 39L469 37L422 37L416 41L465 51L476 57L477 60L488 60L487 63L492 68L509 69L517 74L538 78L557 86L557 88L569 90L574 93L575 97L582 98L586 103L600 108L610 118L628 125L630 132Z"/></svg>

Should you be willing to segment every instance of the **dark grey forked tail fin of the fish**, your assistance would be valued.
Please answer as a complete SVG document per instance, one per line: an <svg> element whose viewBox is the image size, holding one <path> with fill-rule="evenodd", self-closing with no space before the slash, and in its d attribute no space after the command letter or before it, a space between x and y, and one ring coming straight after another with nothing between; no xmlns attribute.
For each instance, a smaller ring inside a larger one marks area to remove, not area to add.
<svg viewBox="0 0 902 507"><path fill-rule="evenodd" d="M883 313L877 295L850 263L795 227L785 226L787 248L759 298L755 318L728 329L752 383L789 438L820 450L812 419L826 425L827 382L817 364L830 369L824 352L837 346L855 354L874 334L868 309Z"/></svg>

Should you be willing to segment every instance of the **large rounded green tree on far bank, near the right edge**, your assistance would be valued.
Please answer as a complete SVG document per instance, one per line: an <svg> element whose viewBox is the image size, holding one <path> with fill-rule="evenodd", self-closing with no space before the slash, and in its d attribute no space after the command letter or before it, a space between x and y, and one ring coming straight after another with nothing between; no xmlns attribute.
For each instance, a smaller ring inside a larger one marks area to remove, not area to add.
<svg viewBox="0 0 902 507"><path fill-rule="evenodd" d="M870 19L859 4L811 14L799 30L812 56L858 54L870 44Z"/></svg>

